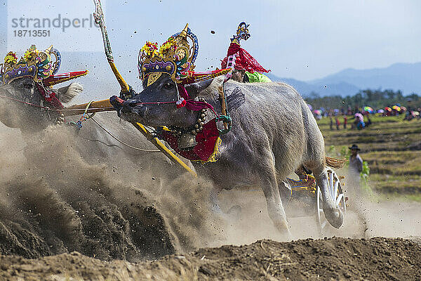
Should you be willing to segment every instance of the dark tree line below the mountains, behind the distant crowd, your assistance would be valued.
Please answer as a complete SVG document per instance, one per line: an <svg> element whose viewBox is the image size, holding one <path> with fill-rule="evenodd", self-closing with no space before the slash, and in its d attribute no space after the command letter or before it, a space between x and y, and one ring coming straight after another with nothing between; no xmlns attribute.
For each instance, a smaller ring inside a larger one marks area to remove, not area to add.
<svg viewBox="0 0 421 281"><path fill-rule="evenodd" d="M408 96L403 96L400 90L393 91L390 89L386 90L372 90L366 89L361 90L354 96L319 96L318 93L310 93L309 96L304 97L307 103L312 105L314 109L320 107L324 108L342 108L342 107L363 107L370 106L374 109L385 108L400 104L401 106L411 107L415 109L421 107L421 96L416 93L411 93Z"/></svg>

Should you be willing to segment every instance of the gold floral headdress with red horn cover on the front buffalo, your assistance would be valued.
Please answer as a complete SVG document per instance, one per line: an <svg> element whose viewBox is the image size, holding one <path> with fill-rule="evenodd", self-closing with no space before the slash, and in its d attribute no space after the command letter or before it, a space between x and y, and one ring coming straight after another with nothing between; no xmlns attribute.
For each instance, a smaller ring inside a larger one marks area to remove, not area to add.
<svg viewBox="0 0 421 281"><path fill-rule="evenodd" d="M192 41L192 47L187 39ZM158 43L146 42L139 52L139 77L144 86L154 84L163 73L170 75L178 84L191 84L229 72L194 72L194 61L198 53L199 42L187 24L182 32L173 34L159 48Z"/></svg>

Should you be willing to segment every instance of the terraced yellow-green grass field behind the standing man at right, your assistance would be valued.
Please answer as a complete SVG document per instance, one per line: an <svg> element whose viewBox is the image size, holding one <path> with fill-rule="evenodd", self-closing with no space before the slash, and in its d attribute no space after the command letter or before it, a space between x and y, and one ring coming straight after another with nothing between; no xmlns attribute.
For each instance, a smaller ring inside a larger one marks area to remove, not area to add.
<svg viewBox="0 0 421 281"><path fill-rule="evenodd" d="M342 117L339 131L336 126L330 130L328 118L319 120L326 153L349 159L348 147L359 145L366 162L363 177L367 186L383 194L421 201L421 120L403 121L403 116L370 119L373 124L361 131L350 129L350 124L343 129Z"/></svg>

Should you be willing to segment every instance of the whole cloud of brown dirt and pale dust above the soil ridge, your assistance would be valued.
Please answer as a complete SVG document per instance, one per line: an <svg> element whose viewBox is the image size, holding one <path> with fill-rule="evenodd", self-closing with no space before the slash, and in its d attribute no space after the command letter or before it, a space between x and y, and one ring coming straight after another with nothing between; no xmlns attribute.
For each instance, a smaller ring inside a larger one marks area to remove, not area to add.
<svg viewBox="0 0 421 281"><path fill-rule="evenodd" d="M78 141L56 126L24 138L0 125L0 254L38 258L79 251L102 260L139 261L283 238L258 188L222 191L227 215L214 214L208 179L172 173L156 154L135 163L116 154L88 164ZM345 226L325 235L419 235L420 210L409 202L358 200ZM312 217L289 223L296 239L320 237Z"/></svg>

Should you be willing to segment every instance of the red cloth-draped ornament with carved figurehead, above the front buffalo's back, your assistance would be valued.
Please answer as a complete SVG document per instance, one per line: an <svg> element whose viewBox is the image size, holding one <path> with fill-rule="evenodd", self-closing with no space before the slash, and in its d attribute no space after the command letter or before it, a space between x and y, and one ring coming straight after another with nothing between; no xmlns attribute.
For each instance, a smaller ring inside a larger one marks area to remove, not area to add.
<svg viewBox="0 0 421 281"><path fill-rule="evenodd" d="M227 68L231 67L236 70L246 70L250 73L255 71L257 72L270 72L270 70L265 70L265 68L258 63L255 58L253 58L250 53L241 48L240 41L241 39L247 40L250 38L250 33L248 32L248 27L246 22L241 22L239 27L237 27L236 35L231 39L231 44L229 45L227 56L222 60L221 67Z"/></svg>

